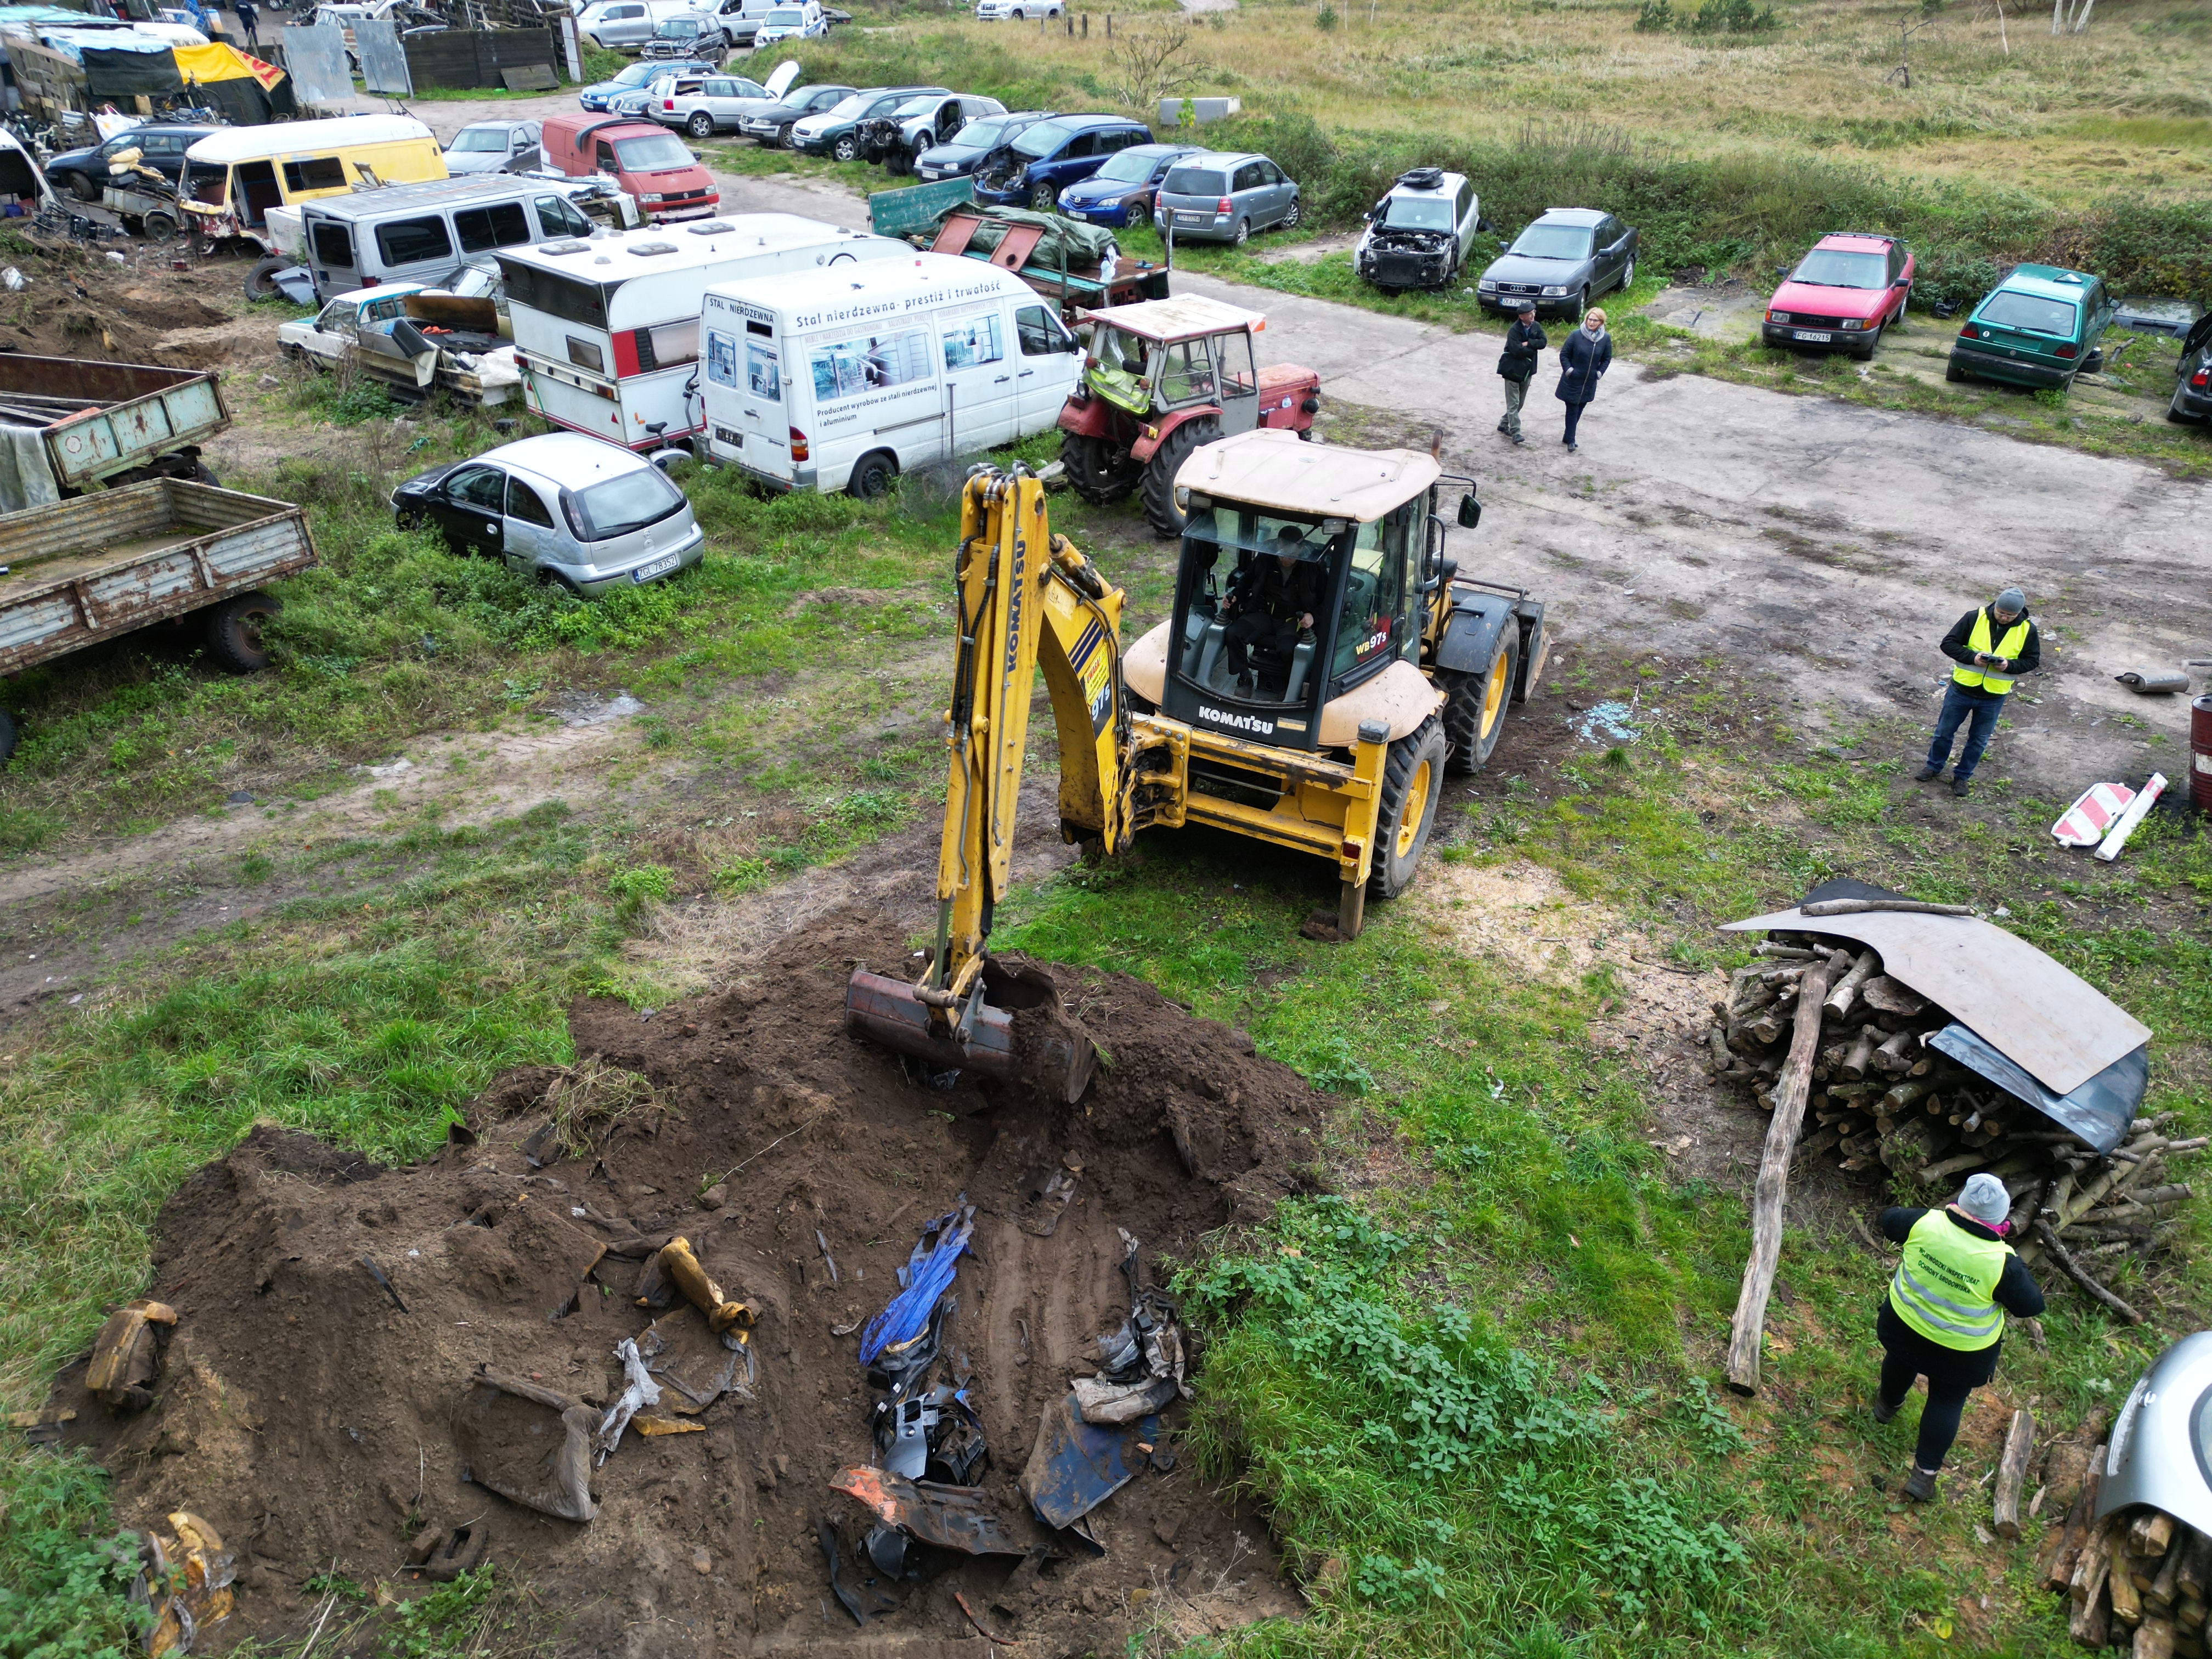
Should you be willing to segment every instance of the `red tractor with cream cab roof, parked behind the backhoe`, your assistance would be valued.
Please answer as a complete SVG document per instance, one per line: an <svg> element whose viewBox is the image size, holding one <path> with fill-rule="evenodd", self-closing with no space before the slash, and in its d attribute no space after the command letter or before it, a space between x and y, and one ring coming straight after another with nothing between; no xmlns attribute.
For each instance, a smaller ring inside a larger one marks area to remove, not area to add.
<svg viewBox="0 0 2212 1659"><path fill-rule="evenodd" d="M1214 438L1283 427L1307 438L1321 376L1296 363L1252 365L1267 319L1203 294L1084 312L1084 378L1060 411L1060 460L1086 502L1141 491L1159 535L1183 533L1175 473Z"/></svg>

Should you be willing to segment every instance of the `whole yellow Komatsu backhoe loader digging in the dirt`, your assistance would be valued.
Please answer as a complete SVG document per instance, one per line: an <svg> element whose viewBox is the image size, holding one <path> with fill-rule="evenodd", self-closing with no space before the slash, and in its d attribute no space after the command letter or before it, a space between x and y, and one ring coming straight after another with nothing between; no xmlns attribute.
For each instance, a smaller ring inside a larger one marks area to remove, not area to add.
<svg viewBox="0 0 2212 1659"><path fill-rule="evenodd" d="M1336 865L1310 931L1352 940L1367 898L1413 880L1447 772L1473 772L1548 650L1544 606L1458 575L1438 491L1473 480L1411 449L1290 431L1206 445L1177 473L1188 513L1175 613L1126 653L1121 591L1064 535L1020 465L975 469L960 507L951 765L938 938L918 984L858 971L852 1029L940 1066L1033 1077L1077 1099L1088 1037L1042 975L984 942L1006 894L1035 672L1060 737L1060 827L1124 852L1203 823ZM1033 1018L1022 1018L1033 1015Z"/></svg>

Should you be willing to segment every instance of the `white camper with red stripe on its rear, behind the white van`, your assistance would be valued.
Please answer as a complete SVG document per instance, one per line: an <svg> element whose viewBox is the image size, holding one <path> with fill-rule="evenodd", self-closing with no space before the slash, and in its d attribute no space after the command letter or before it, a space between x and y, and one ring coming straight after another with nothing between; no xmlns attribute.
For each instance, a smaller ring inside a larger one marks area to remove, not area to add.
<svg viewBox="0 0 2212 1659"><path fill-rule="evenodd" d="M794 212L741 212L502 248L498 259L531 409L630 449L701 449L699 310L708 288L781 272L818 279L830 268L911 261L914 250Z"/></svg>

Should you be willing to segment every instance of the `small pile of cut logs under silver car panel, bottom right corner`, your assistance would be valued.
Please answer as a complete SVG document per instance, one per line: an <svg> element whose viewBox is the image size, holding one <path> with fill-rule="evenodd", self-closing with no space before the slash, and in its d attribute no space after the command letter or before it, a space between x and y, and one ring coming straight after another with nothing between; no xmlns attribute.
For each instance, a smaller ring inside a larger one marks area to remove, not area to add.
<svg viewBox="0 0 2212 1659"><path fill-rule="evenodd" d="M2053 1447L2053 1460L2059 1451ZM2066 1520L2044 1540L2037 1582L2073 1597L2068 1628L2084 1648L2126 1648L2132 1659L2205 1659L2212 1537L2163 1509L2128 1506L2090 1520L2101 1471L2104 1447L2097 1447Z"/></svg>

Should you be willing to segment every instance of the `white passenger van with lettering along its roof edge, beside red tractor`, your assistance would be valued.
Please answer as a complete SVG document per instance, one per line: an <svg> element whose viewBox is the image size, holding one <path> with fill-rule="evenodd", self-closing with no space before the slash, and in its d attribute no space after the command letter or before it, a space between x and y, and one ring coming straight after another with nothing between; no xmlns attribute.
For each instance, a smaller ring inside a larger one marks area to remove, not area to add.
<svg viewBox="0 0 2212 1659"><path fill-rule="evenodd" d="M708 453L776 489L880 495L1051 431L1084 367L1037 290L951 254L721 283L703 327Z"/></svg>

